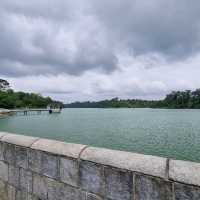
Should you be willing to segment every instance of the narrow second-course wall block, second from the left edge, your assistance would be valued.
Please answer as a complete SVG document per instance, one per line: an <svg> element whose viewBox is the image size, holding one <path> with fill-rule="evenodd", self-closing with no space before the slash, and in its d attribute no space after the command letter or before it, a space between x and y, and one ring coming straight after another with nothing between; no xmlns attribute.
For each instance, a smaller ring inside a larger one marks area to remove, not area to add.
<svg viewBox="0 0 200 200"><path fill-rule="evenodd" d="M16 188L19 187L19 168L9 165L8 183Z"/></svg>

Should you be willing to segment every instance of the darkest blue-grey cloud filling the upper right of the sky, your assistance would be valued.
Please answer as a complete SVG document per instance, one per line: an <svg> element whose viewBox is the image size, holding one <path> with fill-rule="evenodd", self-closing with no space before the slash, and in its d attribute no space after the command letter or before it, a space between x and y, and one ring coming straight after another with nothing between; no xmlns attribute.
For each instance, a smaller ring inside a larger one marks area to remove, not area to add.
<svg viewBox="0 0 200 200"><path fill-rule="evenodd" d="M200 2L187 0L92 1L111 37L135 54L159 52L177 59L200 49Z"/></svg>

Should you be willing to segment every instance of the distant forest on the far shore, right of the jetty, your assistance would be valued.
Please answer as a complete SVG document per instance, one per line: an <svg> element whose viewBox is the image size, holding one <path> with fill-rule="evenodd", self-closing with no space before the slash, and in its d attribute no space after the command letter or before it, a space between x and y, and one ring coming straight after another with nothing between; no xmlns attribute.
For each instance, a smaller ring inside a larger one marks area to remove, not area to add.
<svg viewBox="0 0 200 200"><path fill-rule="evenodd" d="M98 102L74 102L66 108L200 108L200 89L195 91L173 91L163 100L119 99Z"/></svg>

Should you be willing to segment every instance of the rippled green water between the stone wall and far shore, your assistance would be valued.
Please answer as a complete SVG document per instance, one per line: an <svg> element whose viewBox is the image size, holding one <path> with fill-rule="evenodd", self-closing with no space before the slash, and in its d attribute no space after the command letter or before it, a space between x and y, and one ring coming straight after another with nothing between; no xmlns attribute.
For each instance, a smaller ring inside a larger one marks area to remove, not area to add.
<svg viewBox="0 0 200 200"><path fill-rule="evenodd" d="M200 110L65 109L0 119L0 131L200 161Z"/></svg>

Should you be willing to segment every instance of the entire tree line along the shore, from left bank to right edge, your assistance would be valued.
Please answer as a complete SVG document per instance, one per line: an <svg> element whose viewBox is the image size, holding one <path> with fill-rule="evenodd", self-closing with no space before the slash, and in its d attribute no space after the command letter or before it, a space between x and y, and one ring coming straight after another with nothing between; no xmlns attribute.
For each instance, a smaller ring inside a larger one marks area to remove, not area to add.
<svg viewBox="0 0 200 200"><path fill-rule="evenodd" d="M0 79L0 108L41 108L64 106L66 108L190 108L200 109L200 89L172 91L162 100L119 99L73 102L63 105L40 94L15 92L8 81Z"/></svg>

